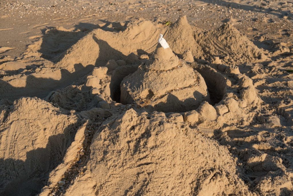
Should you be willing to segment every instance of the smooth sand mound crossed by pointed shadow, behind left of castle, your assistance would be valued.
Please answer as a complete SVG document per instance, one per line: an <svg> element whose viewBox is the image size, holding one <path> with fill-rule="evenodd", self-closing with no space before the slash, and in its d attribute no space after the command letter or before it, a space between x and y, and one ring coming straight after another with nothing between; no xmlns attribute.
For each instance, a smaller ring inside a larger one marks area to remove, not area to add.
<svg viewBox="0 0 293 196"><path fill-rule="evenodd" d="M110 59L125 59L130 53L137 53L138 49L151 52L156 46L154 41L158 33L159 29L153 23L141 19L129 23L127 29L121 32L94 29L69 48L56 66L74 71L76 63L84 67L101 66Z"/></svg>

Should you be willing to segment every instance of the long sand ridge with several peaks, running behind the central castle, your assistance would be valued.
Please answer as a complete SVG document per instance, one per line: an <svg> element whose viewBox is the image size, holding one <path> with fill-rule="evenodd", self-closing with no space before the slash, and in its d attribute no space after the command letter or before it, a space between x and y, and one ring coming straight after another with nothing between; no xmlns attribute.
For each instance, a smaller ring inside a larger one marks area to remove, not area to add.
<svg viewBox="0 0 293 196"><path fill-rule="evenodd" d="M115 32L98 28L88 33L59 27L47 29L42 38L29 45L24 60L0 66L3 75L0 98L43 98L50 91L64 88L86 75L94 66L106 66L111 71L123 62L132 64L147 59L156 49L161 33L172 50L188 62L193 62L193 57L209 60L219 56L219 60L228 64L266 58L262 50L233 26L225 24L202 33L188 24L186 16L181 16L171 27L137 19Z"/></svg>

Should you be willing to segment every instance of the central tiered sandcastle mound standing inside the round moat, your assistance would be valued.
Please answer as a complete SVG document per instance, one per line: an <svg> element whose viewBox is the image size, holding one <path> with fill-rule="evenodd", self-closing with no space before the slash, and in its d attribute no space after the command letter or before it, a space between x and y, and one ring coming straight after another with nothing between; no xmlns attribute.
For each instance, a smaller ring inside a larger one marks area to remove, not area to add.
<svg viewBox="0 0 293 196"><path fill-rule="evenodd" d="M121 83L123 104L136 102L158 111L184 112L196 109L205 100L209 100L209 94L204 79L180 62L171 48L158 47L153 59Z"/></svg>

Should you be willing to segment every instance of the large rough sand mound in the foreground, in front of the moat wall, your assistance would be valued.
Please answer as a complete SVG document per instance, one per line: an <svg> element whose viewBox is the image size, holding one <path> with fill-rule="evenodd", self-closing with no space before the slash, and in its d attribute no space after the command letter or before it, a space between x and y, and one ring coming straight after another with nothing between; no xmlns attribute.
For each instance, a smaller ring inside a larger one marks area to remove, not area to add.
<svg viewBox="0 0 293 196"><path fill-rule="evenodd" d="M65 195L247 195L235 165L180 114L130 109L100 127L84 176Z"/></svg>

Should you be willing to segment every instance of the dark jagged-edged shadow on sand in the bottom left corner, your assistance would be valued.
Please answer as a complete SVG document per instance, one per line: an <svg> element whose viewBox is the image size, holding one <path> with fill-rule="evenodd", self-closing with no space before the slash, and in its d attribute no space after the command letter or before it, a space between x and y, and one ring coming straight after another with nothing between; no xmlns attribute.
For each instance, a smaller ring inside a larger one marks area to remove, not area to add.
<svg viewBox="0 0 293 196"><path fill-rule="evenodd" d="M73 142L80 121L69 125L62 134L48 138L45 148L26 153L26 160L0 159L0 195L37 195L47 184L49 173L59 165Z"/></svg>

